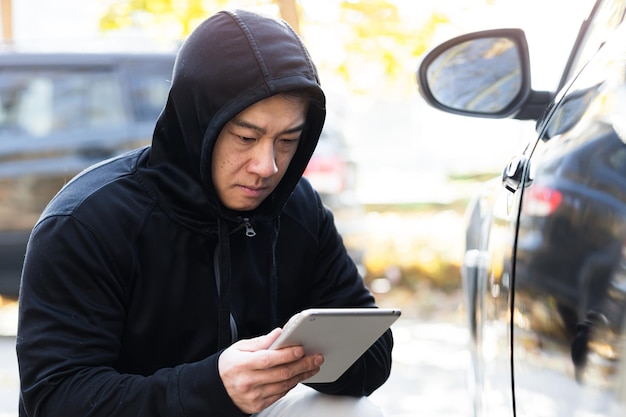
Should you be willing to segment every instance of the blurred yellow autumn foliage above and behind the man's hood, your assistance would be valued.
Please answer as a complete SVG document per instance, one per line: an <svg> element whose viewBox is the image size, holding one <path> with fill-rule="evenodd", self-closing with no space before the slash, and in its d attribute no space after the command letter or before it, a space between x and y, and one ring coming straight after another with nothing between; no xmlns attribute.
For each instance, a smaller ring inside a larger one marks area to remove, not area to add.
<svg viewBox="0 0 626 417"><path fill-rule="evenodd" d="M316 62L342 77L354 92L366 92L376 86L388 93L414 94L410 83L417 57L430 45L436 26L447 21L444 15L434 12L423 22L409 21L402 16L395 0L335 0L324 4L321 2L326 0L109 1L100 20L102 31L136 29L177 41L218 10L229 7L272 9L296 32L302 32L309 47L322 37L320 34L332 32L333 48L341 50L341 59L335 59L329 67L323 62L328 54L322 50ZM306 14L306 7L312 5L334 7L334 11L338 10L337 21L312 21ZM424 11L426 16L428 13ZM326 47L328 45L322 48ZM365 73L364 69L368 70L369 78L357 77Z"/></svg>

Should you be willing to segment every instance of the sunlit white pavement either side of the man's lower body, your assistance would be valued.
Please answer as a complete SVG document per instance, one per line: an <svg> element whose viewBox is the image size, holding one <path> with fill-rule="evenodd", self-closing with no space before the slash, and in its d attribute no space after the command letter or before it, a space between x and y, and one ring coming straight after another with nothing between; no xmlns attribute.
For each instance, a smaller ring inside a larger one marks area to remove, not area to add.
<svg viewBox="0 0 626 417"><path fill-rule="evenodd" d="M0 417L17 417L14 308L0 310ZM442 320L442 319L439 319ZM467 332L455 321L394 324L391 377L372 394L387 417L469 416Z"/></svg>

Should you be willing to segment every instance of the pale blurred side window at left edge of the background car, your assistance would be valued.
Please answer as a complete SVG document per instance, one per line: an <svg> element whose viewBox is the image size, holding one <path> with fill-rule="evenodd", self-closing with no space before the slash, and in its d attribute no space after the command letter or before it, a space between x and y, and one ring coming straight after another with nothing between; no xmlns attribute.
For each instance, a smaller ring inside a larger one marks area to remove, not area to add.
<svg viewBox="0 0 626 417"><path fill-rule="evenodd" d="M0 140L127 122L112 71L15 68L0 72Z"/></svg>

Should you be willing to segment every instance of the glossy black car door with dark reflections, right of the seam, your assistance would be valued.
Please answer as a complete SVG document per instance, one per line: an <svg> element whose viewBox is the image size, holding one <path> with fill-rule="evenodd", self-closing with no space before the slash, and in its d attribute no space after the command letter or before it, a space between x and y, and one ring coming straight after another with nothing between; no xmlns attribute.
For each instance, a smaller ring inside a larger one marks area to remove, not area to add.
<svg viewBox="0 0 626 417"><path fill-rule="evenodd" d="M510 319L517 417L607 416L623 406L624 10L623 1L598 3L570 66L582 71L540 121L540 139L515 190L521 205Z"/></svg>

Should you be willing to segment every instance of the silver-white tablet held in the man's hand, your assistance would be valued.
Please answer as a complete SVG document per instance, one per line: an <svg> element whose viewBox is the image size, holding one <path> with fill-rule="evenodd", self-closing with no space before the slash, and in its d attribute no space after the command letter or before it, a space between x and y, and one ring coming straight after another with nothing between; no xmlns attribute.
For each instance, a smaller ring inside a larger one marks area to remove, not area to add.
<svg viewBox="0 0 626 417"><path fill-rule="evenodd" d="M333 382L369 349L400 317L399 309L313 308L294 315L270 346L302 346L307 355L321 354L324 363L306 383Z"/></svg>

